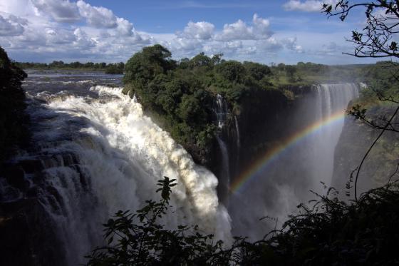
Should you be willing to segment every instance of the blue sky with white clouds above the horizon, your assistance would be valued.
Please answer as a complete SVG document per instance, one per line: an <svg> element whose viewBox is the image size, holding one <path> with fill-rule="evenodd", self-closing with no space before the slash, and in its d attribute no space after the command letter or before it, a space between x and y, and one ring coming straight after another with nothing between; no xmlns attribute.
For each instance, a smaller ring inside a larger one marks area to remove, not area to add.
<svg viewBox="0 0 399 266"><path fill-rule="evenodd" d="M336 0L326 0L334 2ZM318 0L0 0L0 45L16 61L126 61L162 44L175 58L204 51L261 63L371 63L343 55L362 10L327 19Z"/></svg>

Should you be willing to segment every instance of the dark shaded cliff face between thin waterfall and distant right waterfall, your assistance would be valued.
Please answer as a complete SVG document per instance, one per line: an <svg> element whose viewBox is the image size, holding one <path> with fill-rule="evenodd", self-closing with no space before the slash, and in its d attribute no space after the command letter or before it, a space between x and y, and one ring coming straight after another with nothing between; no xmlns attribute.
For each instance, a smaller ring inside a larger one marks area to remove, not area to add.
<svg viewBox="0 0 399 266"><path fill-rule="evenodd" d="M286 91L295 98L287 98L283 91L253 91L243 98L239 114L227 118L222 139L229 148L233 176L264 153L269 145L292 133L291 125L296 123L291 121L292 114L299 110L304 96L311 95L312 88L291 87ZM215 157L220 158L219 155ZM214 173L218 173L217 170Z"/></svg>

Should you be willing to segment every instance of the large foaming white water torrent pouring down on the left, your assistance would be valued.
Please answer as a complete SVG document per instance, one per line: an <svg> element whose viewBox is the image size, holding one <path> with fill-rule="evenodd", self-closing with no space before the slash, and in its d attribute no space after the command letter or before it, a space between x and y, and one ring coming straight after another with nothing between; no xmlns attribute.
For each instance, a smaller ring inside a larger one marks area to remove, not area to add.
<svg viewBox="0 0 399 266"><path fill-rule="evenodd" d="M165 225L195 224L204 233L229 241L229 215L218 202L217 178L195 165L168 133L144 116L140 103L121 93L122 88L96 86L90 90L99 98L50 97L47 109L32 113L56 114L36 138L56 139L71 121L84 124L72 140L43 148L43 152L78 155L87 178L85 187L78 170L63 166L62 160L45 170L46 182L56 188L62 204L53 195L42 201L64 240L68 265L82 262L83 255L100 245L101 223L116 211L135 211L145 200L159 198L155 184L164 176L178 183L172 189L174 208L165 216Z"/></svg>

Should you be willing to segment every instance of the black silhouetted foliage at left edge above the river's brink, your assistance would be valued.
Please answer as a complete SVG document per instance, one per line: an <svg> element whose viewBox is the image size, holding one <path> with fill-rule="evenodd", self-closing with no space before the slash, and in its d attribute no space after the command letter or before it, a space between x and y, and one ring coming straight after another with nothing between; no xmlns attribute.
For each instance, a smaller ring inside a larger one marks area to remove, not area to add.
<svg viewBox="0 0 399 266"><path fill-rule="evenodd" d="M28 140L25 92L21 88L24 78L26 73L0 46L0 165Z"/></svg>

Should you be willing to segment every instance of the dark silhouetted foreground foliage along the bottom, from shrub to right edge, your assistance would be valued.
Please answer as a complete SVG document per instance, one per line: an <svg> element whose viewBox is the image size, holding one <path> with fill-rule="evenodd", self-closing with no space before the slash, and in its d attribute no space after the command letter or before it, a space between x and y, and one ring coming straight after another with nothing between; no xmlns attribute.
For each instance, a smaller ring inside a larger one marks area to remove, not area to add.
<svg viewBox="0 0 399 266"><path fill-rule="evenodd" d="M118 211L104 224L107 245L88 265L390 265L399 262L399 186L390 183L344 203L332 188L298 206L281 230L262 240L234 237L232 245L202 235L198 226L167 230L162 216L175 180L158 185L161 200L147 200L135 214Z"/></svg>

